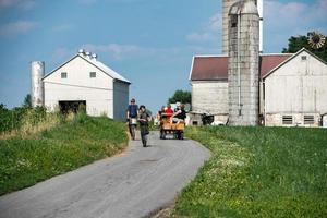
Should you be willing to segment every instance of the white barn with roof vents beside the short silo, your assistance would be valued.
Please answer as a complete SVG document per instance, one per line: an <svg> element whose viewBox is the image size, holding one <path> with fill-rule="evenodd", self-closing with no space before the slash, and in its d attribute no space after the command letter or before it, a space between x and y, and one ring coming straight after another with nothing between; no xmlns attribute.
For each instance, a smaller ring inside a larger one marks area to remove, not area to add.
<svg viewBox="0 0 327 218"><path fill-rule="evenodd" d="M89 116L125 118L130 82L97 60L80 51L43 78L45 106L49 111L86 106Z"/></svg>

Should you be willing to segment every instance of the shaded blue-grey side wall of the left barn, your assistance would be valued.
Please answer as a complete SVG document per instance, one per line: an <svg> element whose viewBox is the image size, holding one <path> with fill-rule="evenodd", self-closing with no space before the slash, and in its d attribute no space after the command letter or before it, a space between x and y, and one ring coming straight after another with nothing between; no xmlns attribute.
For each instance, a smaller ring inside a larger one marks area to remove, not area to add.
<svg viewBox="0 0 327 218"><path fill-rule="evenodd" d="M125 120L129 105L129 84L113 82L113 118L121 121Z"/></svg>

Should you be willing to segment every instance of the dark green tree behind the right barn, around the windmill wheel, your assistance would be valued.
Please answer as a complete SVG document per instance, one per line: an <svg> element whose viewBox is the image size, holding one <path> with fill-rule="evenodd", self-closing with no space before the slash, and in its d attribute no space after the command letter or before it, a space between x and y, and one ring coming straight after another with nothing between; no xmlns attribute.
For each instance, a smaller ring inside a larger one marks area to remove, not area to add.
<svg viewBox="0 0 327 218"><path fill-rule="evenodd" d="M322 48L314 49L308 45L307 39L307 36L292 36L291 38L289 38L288 48L283 48L282 52L295 53L302 48L306 48L307 50L310 50L311 52L313 52L314 55L327 62L327 43L325 43L325 45Z"/></svg>

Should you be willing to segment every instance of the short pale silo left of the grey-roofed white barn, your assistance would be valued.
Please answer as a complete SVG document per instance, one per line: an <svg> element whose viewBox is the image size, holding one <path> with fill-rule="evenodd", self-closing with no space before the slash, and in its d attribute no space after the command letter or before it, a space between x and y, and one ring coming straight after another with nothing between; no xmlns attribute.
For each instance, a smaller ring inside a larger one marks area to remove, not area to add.
<svg viewBox="0 0 327 218"><path fill-rule="evenodd" d="M45 62L33 61L31 63L32 107L44 106L44 101L45 101L45 88L44 88L44 82L43 82L44 76L45 76Z"/></svg>

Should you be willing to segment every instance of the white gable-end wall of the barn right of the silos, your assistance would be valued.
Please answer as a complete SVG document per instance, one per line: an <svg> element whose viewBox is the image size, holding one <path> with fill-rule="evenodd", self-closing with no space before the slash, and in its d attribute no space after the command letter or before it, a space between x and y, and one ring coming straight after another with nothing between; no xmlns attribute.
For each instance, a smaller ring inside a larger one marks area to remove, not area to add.
<svg viewBox="0 0 327 218"><path fill-rule="evenodd" d="M304 56L306 60L302 60ZM296 118L302 114L296 124L304 125L304 114L324 113L327 113L327 65L306 51L265 78L266 125L280 125L282 114Z"/></svg>

